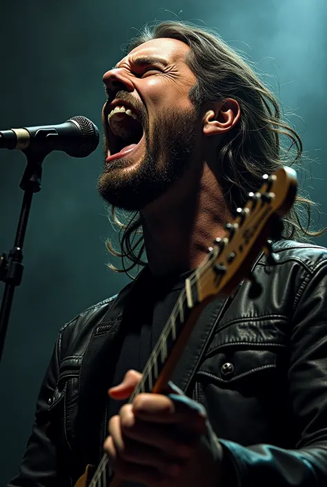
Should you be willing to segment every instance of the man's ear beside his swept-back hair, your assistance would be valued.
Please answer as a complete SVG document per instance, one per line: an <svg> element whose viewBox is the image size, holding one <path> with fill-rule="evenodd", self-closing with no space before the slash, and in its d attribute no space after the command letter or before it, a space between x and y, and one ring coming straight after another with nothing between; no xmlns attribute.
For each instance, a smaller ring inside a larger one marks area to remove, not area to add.
<svg viewBox="0 0 327 487"><path fill-rule="evenodd" d="M236 99L217 102L206 111L203 118L204 135L219 135L230 131L239 121L241 108Z"/></svg>

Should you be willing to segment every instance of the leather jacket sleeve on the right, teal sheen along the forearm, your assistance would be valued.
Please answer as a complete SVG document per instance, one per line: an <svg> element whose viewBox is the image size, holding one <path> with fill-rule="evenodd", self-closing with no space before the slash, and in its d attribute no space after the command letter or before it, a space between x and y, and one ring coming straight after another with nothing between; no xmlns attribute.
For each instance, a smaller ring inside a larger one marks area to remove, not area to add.
<svg viewBox="0 0 327 487"><path fill-rule="evenodd" d="M294 450L220 440L224 481L219 487L327 486L327 260L301 282L290 336L290 408Z"/></svg>

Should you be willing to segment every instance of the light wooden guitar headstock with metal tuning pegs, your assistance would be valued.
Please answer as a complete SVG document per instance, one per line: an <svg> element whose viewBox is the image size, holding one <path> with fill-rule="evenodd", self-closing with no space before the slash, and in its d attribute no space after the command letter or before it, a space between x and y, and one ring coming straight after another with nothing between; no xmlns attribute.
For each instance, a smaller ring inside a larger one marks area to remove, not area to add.
<svg viewBox="0 0 327 487"><path fill-rule="evenodd" d="M256 193L249 193L243 209L237 209L234 222L226 225L224 238L217 238L206 260L198 267L199 301L214 294L229 295L250 271L258 254L267 245L279 219L293 206L297 193L297 174L281 167L264 175ZM266 247L267 248L267 247Z"/></svg>

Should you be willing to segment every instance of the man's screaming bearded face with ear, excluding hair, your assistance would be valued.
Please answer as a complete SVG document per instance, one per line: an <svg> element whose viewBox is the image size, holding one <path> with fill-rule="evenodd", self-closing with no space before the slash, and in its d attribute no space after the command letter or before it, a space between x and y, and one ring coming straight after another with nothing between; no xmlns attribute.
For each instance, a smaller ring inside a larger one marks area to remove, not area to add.
<svg viewBox="0 0 327 487"><path fill-rule="evenodd" d="M99 191L115 206L141 210L192 165L201 170L206 137L237 123L236 101L203 106L191 101L197 77L188 66L189 52L179 39L151 39L103 76L108 102Z"/></svg>

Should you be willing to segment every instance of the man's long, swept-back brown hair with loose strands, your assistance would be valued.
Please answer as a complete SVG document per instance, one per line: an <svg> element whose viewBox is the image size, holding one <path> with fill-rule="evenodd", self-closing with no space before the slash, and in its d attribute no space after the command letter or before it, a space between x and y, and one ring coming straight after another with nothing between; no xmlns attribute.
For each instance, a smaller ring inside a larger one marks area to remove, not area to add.
<svg viewBox="0 0 327 487"><path fill-rule="evenodd" d="M261 81L253 63L230 48L212 30L179 21L148 24L132 39L126 52L162 37L190 46L186 64L197 82L190 89L189 97L197 112L205 102L223 102L227 98L239 102L240 121L226 134L217 152L219 183L233 211L244 206L249 191L259 189L262 175L304 160L301 138L283 120L279 101ZM313 206L304 195L297 195L293 209L283 218L282 238L307 240L326 231L310 230ZM146 265L141 218L139 212L123 213L124 221L121 221L115 207L112 207L112 216L120 228L121 249L115 250L110 240L106 245L113 256L121 258L122 269L109 267L130 276L129 271L134 267Z"/></svg>

